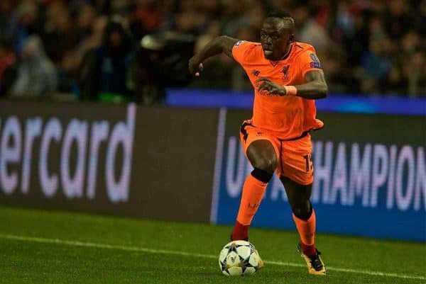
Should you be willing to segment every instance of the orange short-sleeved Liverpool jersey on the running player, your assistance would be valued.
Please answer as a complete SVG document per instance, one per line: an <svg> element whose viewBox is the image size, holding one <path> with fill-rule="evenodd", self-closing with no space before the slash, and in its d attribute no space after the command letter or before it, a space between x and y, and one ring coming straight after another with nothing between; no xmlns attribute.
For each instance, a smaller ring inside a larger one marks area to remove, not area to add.
<svg viewBox="0 0 426 284"><path fill-rule="evenodd" d="M254 126L267 130L282 140L300 137L303 132L323 127L324 123L315 118L315 101L298 96L269 95L268 91L258 92L256 80L267 77L282 86L305 84L305 74L310 70L321 70L315 48L303 42L293 42L287 57L271 61L263 55L258 42L241 40L232 48L236 62L249 75L254 88Z"/></svg>

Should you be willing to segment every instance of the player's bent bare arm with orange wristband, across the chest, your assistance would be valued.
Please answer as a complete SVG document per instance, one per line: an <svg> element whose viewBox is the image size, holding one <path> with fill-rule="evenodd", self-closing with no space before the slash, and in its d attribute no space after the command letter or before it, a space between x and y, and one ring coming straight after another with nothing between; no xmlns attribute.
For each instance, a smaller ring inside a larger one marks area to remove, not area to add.
<svg viewBox="0 0 426 284"><path fill-rule="evenodd" d="M258 79L260 84L258 91L267 90L271 95L278 96L300 96L308 100L325 98L328 93L328 86L322 70L310 70L305 74L305 84L297 86L281 86L266 77Z"/></svg>

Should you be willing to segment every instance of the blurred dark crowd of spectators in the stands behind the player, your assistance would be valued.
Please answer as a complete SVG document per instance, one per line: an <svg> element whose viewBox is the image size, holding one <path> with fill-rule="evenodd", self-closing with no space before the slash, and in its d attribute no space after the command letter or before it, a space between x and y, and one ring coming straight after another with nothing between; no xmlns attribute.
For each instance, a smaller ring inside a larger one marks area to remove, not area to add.
<svg viewBox="0 0 426 284"><path fill-rule="evenodd" d="M258 41L277 8L330 92L426 96L426 0L0 0L0 96L152 104L169 86L251 89L226 56L198 79L187 59L217 35Z"/></svg>

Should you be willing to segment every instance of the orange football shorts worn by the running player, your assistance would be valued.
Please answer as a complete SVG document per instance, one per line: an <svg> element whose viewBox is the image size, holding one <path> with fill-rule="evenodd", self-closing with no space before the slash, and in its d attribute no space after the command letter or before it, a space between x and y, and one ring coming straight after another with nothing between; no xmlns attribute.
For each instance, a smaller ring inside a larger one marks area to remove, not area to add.
<svg viewBox="0 0 426 284"><path fill-rule="evenodd" d="M275 169L278 176L286 176L302 185L314 181L314 166L311 159L312 143L308 132L296 140L281 140L275 135L251 125L251 120L245 120L241 125L240 139L244 153L247 152L247 148L253 141L268 140L271 142L278 157L278 166Z"/></svg>

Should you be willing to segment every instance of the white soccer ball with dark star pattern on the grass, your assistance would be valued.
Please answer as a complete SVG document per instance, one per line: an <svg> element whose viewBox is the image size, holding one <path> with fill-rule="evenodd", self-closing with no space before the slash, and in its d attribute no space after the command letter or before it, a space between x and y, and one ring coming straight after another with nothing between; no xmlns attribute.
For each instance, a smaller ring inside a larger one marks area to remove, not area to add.
<svg viewBox="0 0 426 284"><path fill-rule="evenodd" d="M259 254L250 242L233 241L219 254L219 268L226 276L243 276L258 271Z"/></svg>

